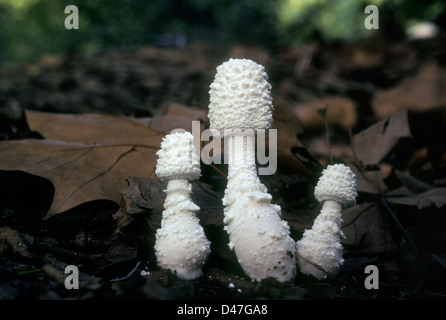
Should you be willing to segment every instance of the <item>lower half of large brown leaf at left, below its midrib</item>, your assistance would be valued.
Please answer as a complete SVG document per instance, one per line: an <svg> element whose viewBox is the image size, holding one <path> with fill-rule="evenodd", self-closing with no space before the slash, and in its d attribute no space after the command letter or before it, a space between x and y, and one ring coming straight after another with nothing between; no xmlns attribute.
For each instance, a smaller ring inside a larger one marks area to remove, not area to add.
<svg viewBox="0 0 446 320"><path fill-rule="evenodd" d="M0 169L22 170L49 179L55 195L48 213L54 214L97 199L119 203L128 175L153 176L155 152L155 146L130 144L4 141L0 143Z"/></svg>

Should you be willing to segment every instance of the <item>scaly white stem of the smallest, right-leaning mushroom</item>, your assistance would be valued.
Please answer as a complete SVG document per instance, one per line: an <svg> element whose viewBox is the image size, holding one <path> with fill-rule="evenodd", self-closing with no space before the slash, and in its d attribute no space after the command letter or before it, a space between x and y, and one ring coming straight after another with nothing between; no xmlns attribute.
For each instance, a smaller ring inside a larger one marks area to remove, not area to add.
<svg viewBox="0 0 446 320"><path fill-rule="evenodd" d="M326 200L312 229L305 230L297 242L300 271L321 280L335 275L343 264L341 238L342 204Z"/></svg>

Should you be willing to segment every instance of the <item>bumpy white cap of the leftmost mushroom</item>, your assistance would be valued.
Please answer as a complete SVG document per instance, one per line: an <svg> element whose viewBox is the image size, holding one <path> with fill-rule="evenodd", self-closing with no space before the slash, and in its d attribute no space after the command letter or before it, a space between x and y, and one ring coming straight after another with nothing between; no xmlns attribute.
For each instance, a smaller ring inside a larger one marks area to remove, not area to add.
<svg viewBox="0 0 446 320"><path fill-rule="evenodd" d="M155 174L162 180L200 178L200 157L190 132L175 132L166 135L156 153L158 161Z"/></svg>

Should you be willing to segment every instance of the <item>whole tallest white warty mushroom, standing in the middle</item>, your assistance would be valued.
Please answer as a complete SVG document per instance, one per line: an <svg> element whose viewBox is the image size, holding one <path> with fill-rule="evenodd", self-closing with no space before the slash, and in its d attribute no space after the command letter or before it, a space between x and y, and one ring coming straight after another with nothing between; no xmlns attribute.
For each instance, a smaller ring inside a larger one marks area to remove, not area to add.
<svg viewBox="0 0 446 320"><path fill-rule="evenodd" d="M209 120L227 142L223 205L229 247L251 279L284 282L295 276L295 241L280 206L271 204L255 161L255 130L269 129L273 120L267 80L264 67L251 60L230 59L220 65L210 86Z"/></svg>

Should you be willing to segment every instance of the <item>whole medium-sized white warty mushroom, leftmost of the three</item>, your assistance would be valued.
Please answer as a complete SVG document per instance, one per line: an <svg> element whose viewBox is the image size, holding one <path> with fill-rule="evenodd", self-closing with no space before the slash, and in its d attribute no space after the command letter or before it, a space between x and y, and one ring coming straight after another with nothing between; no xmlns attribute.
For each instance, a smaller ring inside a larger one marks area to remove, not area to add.
<svg viewBox="0 0 446 320"><path fill-rule="evenodd" d="M158 266L170 269L184 280L202 275L202 266L210 253L192 202L189 181L200 177L200 159L189 132L171 133L161 143L155 173L167 180L161 228L156 231L155 255Z"/></svg>

